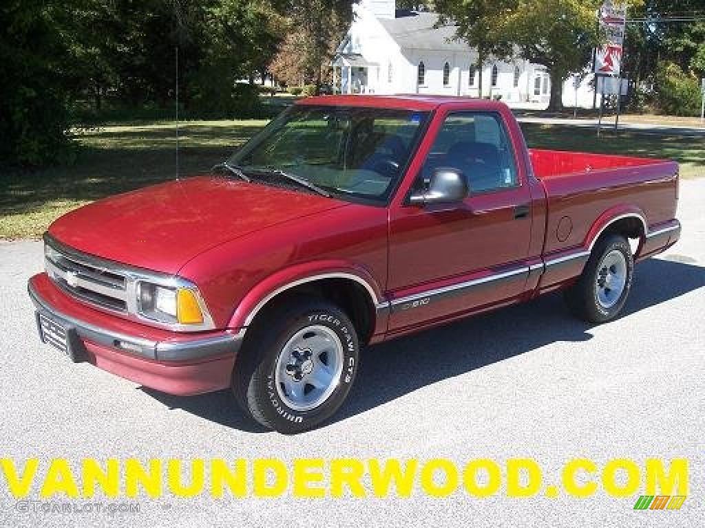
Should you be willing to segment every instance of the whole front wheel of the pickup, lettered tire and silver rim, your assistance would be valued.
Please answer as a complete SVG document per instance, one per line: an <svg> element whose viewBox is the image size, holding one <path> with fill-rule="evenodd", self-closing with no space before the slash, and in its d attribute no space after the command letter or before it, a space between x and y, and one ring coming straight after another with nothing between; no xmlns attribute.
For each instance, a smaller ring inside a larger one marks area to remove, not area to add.
<svg viewBox="0 0 705 528"><path fill-rule="evenodd" d="M338 410L355 380L360 348L340 308L293 298L252 332L235 363L233 392L257 422L293 434Z"/></svg>

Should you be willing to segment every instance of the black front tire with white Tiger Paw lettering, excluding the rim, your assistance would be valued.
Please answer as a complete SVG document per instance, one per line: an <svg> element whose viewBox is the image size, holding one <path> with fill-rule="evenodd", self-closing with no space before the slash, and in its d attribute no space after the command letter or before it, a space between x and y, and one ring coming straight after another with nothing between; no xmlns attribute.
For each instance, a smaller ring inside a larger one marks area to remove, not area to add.
<svg viewBox="0 0 705 528"><path fill-rule="evenodd" d="M295 410L276 388L277 362L288 341L312 325L329 328L340 339L342 370L325 401L311 410ZM343 310L315 297L290 298L264 314L250 332L235 362L232 388L240 407L255 421L267 429L296 434L313 429L340 408L353 386L360 358L357 332Z"/></svg>

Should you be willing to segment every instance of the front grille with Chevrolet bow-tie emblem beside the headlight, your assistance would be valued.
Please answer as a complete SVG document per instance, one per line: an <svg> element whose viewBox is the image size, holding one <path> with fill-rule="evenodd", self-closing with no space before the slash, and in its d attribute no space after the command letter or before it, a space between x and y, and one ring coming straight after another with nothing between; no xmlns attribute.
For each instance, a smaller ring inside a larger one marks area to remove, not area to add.
<svg viewBox="0 0 705 528"><path fill-rule="evenodd" d="M53 246L46 246L44 263L47 274L61 289L90 304L118 312L127 312L127 279L118 272L92 263Z"/></svg>

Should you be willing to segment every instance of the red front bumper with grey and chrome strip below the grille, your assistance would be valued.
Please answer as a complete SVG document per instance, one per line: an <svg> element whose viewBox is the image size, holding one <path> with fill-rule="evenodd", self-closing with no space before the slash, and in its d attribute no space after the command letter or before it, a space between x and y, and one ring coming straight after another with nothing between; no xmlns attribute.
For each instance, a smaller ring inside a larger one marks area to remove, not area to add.
<svg viewBox="0 0 705 528"><path fill-rule="evenodd" d="M32 277L27 290L37 312L66 329L79 355L102 370L168 394L230 386L243 331L185 334L123 320L75 301L46 273Z"/></svg>

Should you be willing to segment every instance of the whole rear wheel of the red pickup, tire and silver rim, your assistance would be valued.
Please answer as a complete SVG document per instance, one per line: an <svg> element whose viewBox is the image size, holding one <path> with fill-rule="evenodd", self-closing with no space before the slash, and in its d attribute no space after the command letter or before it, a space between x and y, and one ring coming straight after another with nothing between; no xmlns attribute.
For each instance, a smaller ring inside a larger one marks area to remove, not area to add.
<svg viewBox="0 0 705 528"><path fill-rule="evenodd" d="M629 241L618 234L599 239L565 301L577 317L606 322L622 311L632 287L634 258Z"/></svg>

